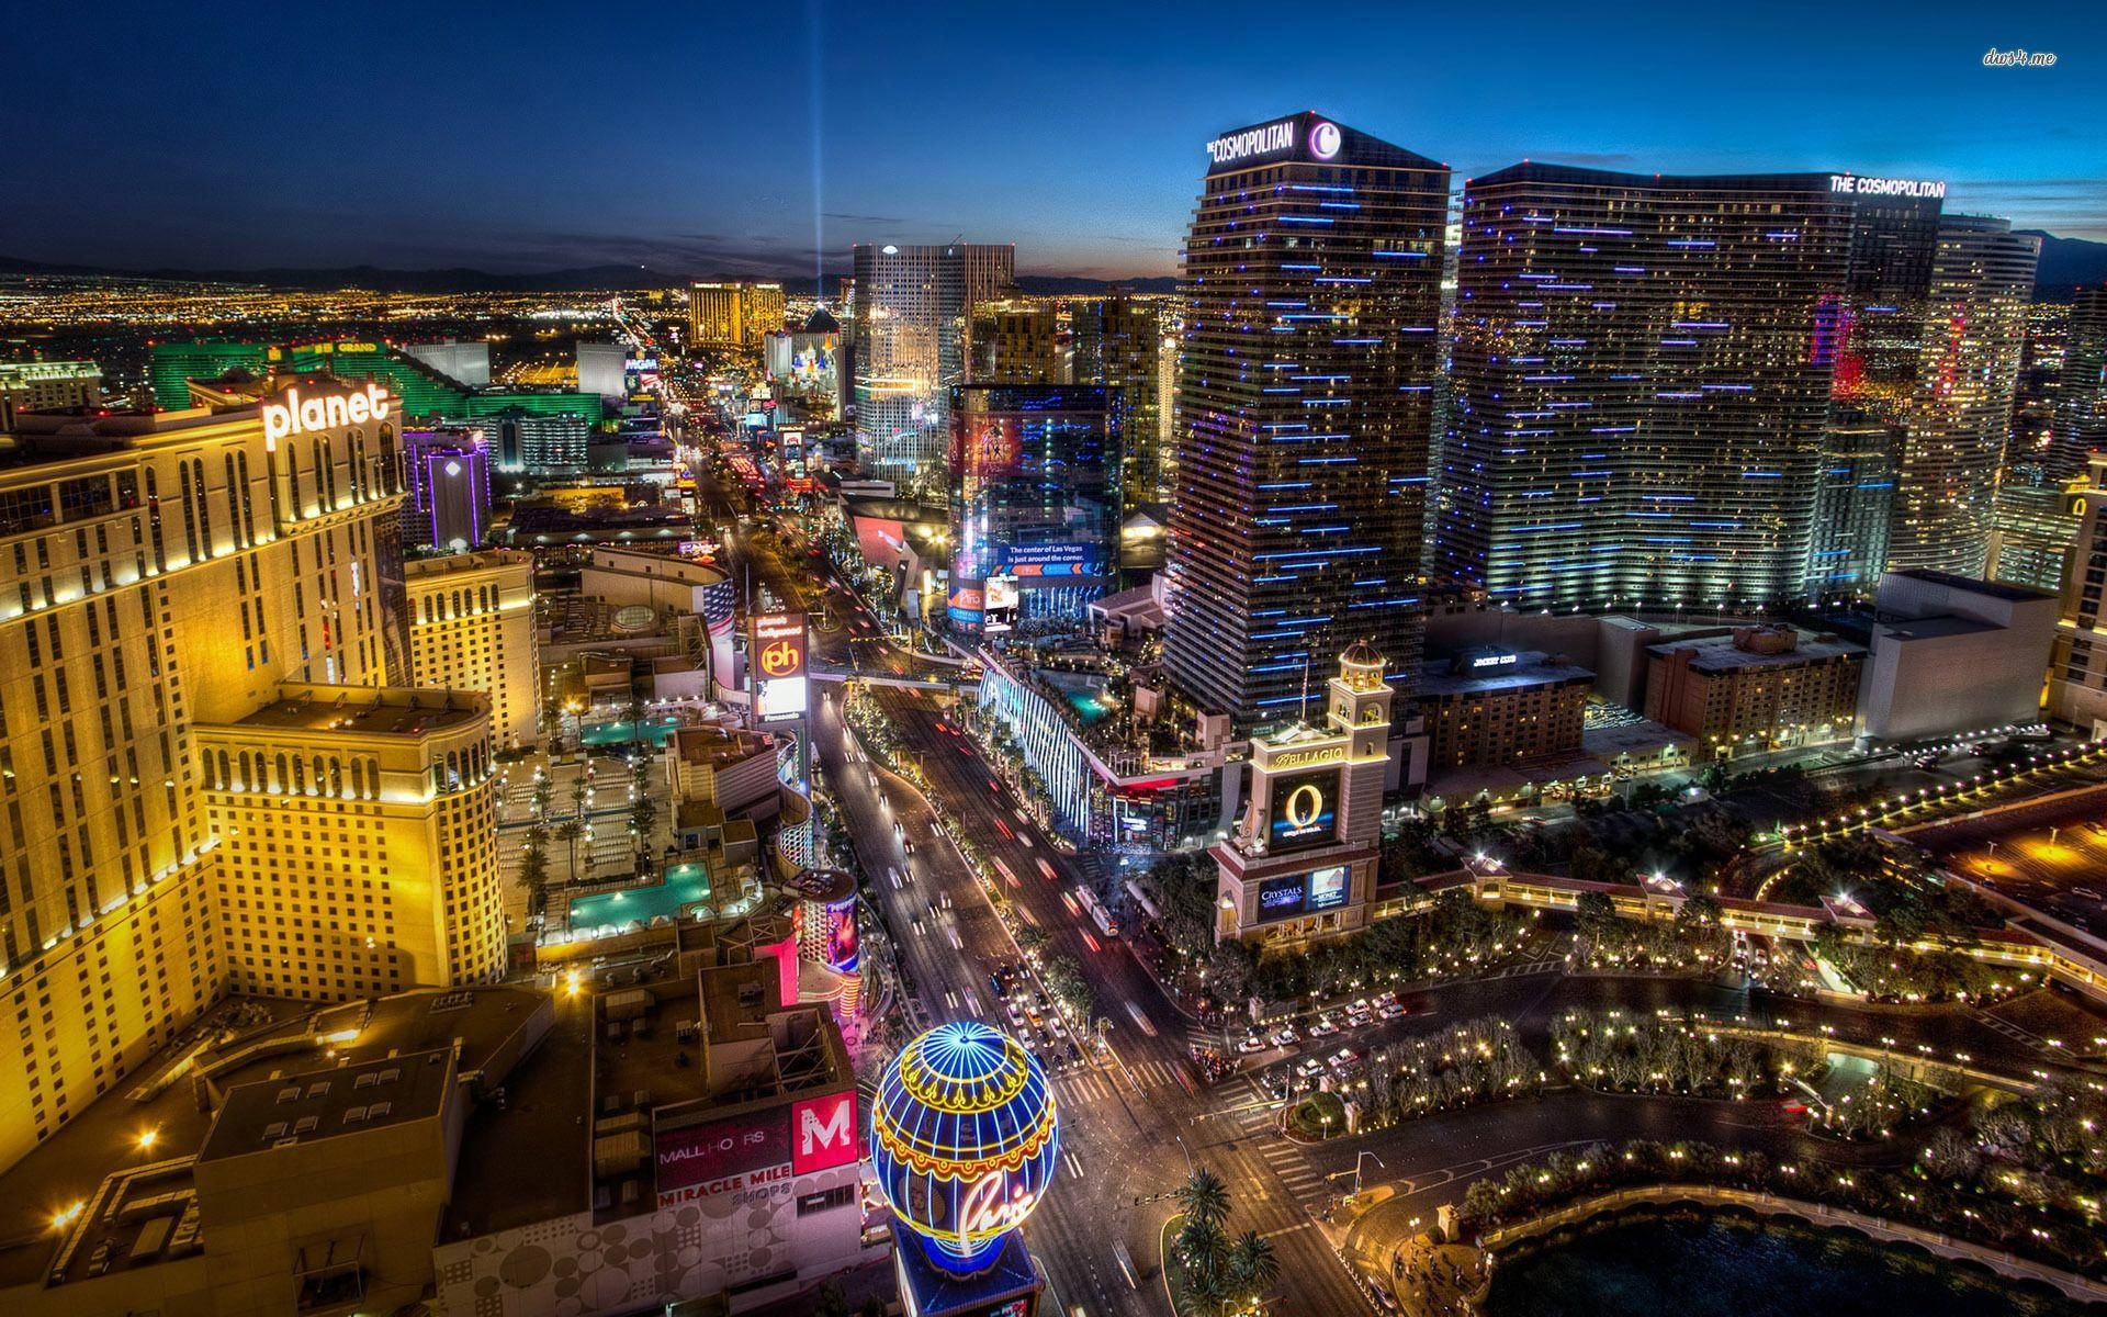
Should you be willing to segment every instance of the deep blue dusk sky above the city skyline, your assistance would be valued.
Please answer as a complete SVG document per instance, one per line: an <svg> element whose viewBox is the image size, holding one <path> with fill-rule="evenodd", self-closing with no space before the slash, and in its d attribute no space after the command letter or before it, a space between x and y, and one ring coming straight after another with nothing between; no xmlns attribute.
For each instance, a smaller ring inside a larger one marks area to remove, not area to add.
<svg viewBox="0 0 2107 1317"><path fill-rule="evenodd" d="M13 6L0 255L809 274L1013 240L1171 274L1222 129L1315 107L1448 160L1949 179L2107 240L2092 4ZM1989 48L2054 67L1983 67ZM818 70L818 78L813 72Z"/></svg>

